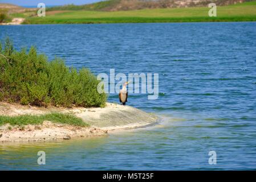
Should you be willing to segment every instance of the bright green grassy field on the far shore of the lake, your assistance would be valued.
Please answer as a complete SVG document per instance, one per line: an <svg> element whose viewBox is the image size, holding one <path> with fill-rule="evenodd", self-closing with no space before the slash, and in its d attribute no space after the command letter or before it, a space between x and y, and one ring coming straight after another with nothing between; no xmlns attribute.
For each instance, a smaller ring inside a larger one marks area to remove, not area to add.
<svg viewBox="0 0 256 182"><path fill-rule="evenodd" d="M256 21L256 1L217 6L217 17L208 7L144 9L132 11L66 11L45 17L27 17L25 24L55 23L151 23L151 22L237 22ZM50 11L49 11L50 12Z"/></svg>

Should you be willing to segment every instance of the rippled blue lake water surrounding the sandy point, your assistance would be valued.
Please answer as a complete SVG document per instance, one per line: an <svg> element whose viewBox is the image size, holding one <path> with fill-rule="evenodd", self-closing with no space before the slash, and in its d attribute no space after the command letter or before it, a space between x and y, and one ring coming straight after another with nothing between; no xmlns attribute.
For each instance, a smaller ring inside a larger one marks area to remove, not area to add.
<svg viewBox="0 0 256 182"><path fill-rule="evenodd" d="M159 73L159 98L130 94L128 105L164 122L109 137L1 144L0 169L256 169L255 22L0 26L5 36L95 75ZM117 94L108 100L119 102Z"/></svg>

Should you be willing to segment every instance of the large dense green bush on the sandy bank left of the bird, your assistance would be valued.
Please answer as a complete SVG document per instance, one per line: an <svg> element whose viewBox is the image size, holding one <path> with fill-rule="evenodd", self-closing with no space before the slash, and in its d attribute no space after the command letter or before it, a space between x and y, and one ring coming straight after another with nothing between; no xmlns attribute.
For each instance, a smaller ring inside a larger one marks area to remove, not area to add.
<svg viewBox="0 0 256 182"><path fill-rule="evenodd" d="M47 61L31 47L15 51L6 39L0 43L0 101L38 106L104 106L106 94L97 92L99 81L86 68L68 68L61 59Z"/></svg>

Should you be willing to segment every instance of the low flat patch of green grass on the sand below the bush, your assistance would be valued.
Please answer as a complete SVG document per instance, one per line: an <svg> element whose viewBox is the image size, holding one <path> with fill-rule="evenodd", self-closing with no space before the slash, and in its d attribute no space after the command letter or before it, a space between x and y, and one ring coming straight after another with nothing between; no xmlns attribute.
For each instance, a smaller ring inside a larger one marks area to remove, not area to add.
<svg viewBox="0 0 256 182"><path fill-rule="evenodd" d="M51 121L54 123L62 123L81 127L89 126L87 123L83 122L82 119L71 114L50 113L44 115L20 115L14 117L0 115L0 126L7 123L12 126L40 125L43 123L43 121Z"/></svg>

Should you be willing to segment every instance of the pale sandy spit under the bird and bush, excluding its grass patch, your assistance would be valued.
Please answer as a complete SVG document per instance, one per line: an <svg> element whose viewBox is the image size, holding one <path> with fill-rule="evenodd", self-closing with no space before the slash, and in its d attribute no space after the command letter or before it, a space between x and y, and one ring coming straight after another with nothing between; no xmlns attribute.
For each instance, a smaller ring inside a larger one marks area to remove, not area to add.
<svg viewBox="0 0 256 182"><path fill-rule="evenodd" d="M36 107L0 102L0 115L40 115L54 112L70 113L82 118L90 127L70 126L44 121L42 125L0 126L0 142L35 142L107 136L108 131L134 129L153 125L157 117L131 106L107 103L104 108Z"/></svg>

